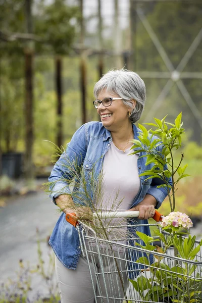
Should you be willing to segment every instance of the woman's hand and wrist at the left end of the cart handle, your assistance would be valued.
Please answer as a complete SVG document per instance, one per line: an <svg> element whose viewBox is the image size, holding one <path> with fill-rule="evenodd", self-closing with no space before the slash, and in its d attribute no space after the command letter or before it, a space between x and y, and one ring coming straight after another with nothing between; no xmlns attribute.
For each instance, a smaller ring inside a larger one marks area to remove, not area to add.
<svg viewBox="0 0 202 303"><path fill-rule="evenodd" d="M75 206L70 194L61 194L56 198L56 203L60 209L65 213L76 214L77 219L84 219L91 221L93 219L92 211L87 206Z"/></svg>

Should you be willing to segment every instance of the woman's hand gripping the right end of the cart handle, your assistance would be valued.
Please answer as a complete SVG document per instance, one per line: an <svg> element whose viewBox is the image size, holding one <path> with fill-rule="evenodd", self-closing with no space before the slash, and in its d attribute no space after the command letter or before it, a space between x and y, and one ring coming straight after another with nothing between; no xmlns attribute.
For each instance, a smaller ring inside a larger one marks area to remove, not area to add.
<svg viewBox="0 0 202 303"><path fill-rule="evenodd" d="M139 211L138 219L149 219L155 215L157 200L153 195L146 194L143 200L129 211Z"/></svg>

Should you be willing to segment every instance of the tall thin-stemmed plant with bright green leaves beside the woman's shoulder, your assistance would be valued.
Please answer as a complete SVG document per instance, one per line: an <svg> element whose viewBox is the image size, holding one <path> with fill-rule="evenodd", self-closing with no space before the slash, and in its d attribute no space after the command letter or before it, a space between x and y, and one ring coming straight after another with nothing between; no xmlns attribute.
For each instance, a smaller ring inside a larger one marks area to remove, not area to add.
<svg viewBox="0 0 202 303"><path fill-rule="evenodd" d="M137 154L140 151L145 153L146 166L149 167L140 176L149 176L150 178L160 178L163 182L158 187L167 188L170 209L175 210L175 191L176 185L179 180L189 176L185 174L187 165L181 166L184 154L181 154L179 164L175 166L173 158L173 150L181 147L181 134L184 132L182 128L183 122L181 122L182 113L180 113L175 119L175 123L166 122L165 116L162 120L154 118L156 123L145 123L146 125L156 128L155 130L147 129L139 124L141 130L138 140L131 140L134 145L131 149L135 149L132 153ZM154 138L154 136L157 136ZM174 177L178 174L176 180ZM169 183L169 179L172 179L172 186ZM172 196L170 189L172 188ZM172 197L172 199L171 199Z"/></svg>

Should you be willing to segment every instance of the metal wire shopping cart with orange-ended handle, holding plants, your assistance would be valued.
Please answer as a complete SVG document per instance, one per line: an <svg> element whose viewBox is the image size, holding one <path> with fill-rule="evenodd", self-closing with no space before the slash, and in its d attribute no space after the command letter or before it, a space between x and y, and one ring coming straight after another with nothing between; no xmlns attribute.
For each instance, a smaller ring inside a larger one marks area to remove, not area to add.
<svg viewBox="0 0 202 303"><path fill-rule="evenodd" d="M137 218L139 212L110 212L94 215L98 220L103 218ZM156 211L154 219L159 222L162 215ZM66 220L77 230L81 251L88 262L94 291L94 302L179 302L202 303L202 255L197 252L194 260L176 257L174 247L161 252L162 241L158 240L158 251L142 248L138 233L129 241L111 239L108 232L116 228L105 227L104 237L95 232L92 225L77 221L75 214L67 214ZM160 224L136 224L137 231L141 226L160 229ZM119 226L129 229L125 225ZM130 227L131 228L131 227ZM162 230L161 230L162 232ZM167 232L163 233L169 237ZM199 241L194 241L196 247ZM129 278L132 278L129 280Z"/></svg>

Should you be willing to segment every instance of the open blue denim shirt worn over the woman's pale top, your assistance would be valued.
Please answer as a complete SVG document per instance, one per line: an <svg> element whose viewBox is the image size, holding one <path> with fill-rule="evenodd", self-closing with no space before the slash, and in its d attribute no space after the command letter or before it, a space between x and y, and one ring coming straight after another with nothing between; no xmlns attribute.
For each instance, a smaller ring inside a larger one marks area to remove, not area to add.
<svg viewBox="0 0 202 303"><path fill-rule="evenodd" d="M141 132L134 124L134 139L138 139L138 132ZM156 137L154 136L152 140ZM67 182L62 181L64 176L68 179L73 178L70 172L65 171L65 159L77 159L77 162L84 170L86 180L89 172L93 169L95 178L98 176L103 166L103 159L112 143L112 137L110 131L108 131L101 122L88 122L82 125L73 135L71 142L67 144L65 152L61 155L60 159L55 164L51 176L48 181L55 183L54 189L51 193L51 197L56 198L60 194L69 193ZM161 150L162 146L158 147ZM138 148L137 148L138 149ZM137 160L138 172L141 174L145 170L151 168L151 164L145 166L146 157L142 157L144 153L140 152ZM132 157L132 156L130 156ZM139 193L134 198L131 208L136 206L144 198L145 194L153 195L157 200L158 209L165 197L167 196L167 190L164 187L157 188L158 185L162 184L161 179L153 178L146 180L148 176L141 176L141 186ZM130 220L128 219L130 224ZM137 220L137 224L147 224L147 220ZM136 228L137 230L137 228ZM141 226L139 231L150 235L148 226ZM133 231L135 235L135 229ZM74 226L66 221L65 214L62 213L53 233L49 239L49 244L52 246L57 258L69 269L76 269L79 256L81 254L81 246L79 243L78 232ZM129 244L130 243L129 241ZM135 260L132 260L135 261ZM133 265L131 264L133 268ZM132 277L131 277L132 278Z"/></svg>

